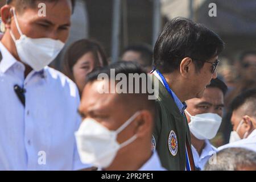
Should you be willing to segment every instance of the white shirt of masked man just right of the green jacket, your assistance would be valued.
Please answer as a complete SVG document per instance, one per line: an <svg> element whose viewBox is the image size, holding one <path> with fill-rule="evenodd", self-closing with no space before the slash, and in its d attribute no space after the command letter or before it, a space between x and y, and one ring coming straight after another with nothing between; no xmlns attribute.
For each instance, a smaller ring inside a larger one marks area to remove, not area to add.
<svg viewBox="0 0 256 182"><path fill-rule="evenodd" d="M213 154L216 154L218 151L216 147L214 147L214 146L212 146L212 144L210 144L208 139L205 140L205 146L204 146L200 156L199 156L198 152L196 151L196 148L193 145L191 146L191 150L193 153L195 166L197 168L200 168L201 170L204 169L204 166L209 161L210 157Z"/></svg>

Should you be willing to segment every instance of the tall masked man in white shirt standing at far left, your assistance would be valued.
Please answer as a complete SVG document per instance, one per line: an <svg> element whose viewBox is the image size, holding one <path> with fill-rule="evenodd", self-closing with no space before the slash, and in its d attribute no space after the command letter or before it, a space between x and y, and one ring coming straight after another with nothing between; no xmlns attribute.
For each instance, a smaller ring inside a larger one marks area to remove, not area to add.
<svg viewBox="0 0 256 182"><path fill-rule="evenodd" d="M73 3L9 0L1 9L0 170L90 167L81 163L75 142L77 87L47 66L68 38Z"/></svg>

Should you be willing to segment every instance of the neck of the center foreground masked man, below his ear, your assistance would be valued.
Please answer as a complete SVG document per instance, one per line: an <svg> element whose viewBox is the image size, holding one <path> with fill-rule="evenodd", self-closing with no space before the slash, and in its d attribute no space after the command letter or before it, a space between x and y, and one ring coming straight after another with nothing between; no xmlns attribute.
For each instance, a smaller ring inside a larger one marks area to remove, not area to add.
<svg viewBox="0 0 256 182"><path fill-rule="evenodd" d="M127 146L127 148L128 147L129 149L116 156L114 162L108 168L105 168L106 171L137 171L152 156L151 143L145 146L142 145L142 142L138 142L133 146ZM136 148L136 150L134 150L134 148Z"/></svg>

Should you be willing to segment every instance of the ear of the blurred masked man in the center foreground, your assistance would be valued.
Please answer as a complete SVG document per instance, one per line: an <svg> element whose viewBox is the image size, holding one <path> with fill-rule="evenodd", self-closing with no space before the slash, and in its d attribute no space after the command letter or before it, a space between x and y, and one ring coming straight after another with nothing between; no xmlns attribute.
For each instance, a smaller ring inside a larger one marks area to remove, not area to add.
<svg viewBox="0 0 256 182"><path fill-rule="evenodd" d="M137 126L135 129L135 134L137 135L137 138L143 138L148 135L148 133L152 132L154 118L150 111L142 110L136 120Z"/></svg>

